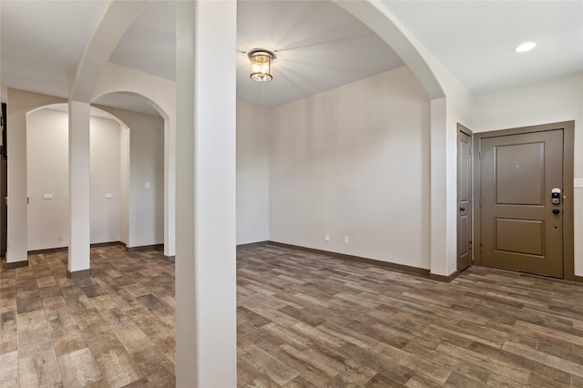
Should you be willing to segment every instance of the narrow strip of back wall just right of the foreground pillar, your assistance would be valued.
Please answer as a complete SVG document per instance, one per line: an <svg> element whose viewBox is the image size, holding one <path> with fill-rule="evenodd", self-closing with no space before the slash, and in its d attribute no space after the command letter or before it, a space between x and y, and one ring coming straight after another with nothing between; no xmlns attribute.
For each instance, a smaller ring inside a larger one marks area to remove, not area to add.
<svg viewBox="0 0 583 388"><path fill-rule="evenodd" d="M237 244L269 240L268 113L237 102Z"/></svg>

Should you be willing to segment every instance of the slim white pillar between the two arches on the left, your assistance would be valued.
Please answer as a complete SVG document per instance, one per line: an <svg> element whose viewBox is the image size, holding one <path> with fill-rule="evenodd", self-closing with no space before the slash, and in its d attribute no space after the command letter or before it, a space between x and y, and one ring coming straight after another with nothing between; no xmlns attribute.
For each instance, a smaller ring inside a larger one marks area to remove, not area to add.
<svg viewBox="0 0 583 388"><path fill-rule="evenodd" d="M69 101L69 277L88 276L89 104Z"/></svg>

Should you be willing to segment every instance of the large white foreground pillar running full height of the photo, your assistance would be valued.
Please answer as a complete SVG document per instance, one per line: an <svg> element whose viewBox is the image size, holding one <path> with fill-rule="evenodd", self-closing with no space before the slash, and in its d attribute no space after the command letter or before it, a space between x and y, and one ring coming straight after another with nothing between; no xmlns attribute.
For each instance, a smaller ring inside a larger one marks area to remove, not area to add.
<svg viewBox="0 0 583 388"><path fill-rule="evenodd" d="M176 385L237 384L237 2L177 2Z"/></svg>

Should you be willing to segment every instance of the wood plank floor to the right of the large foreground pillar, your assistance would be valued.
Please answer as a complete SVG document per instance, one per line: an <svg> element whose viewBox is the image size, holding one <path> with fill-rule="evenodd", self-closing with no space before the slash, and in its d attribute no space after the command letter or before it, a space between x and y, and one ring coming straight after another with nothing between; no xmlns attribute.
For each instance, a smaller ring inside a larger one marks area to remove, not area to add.
<svg viewBox="0 0 583 388"><path fill-rule="evenodd" d="M238 253L240 386L583 387L583 285Z"/></svg>

